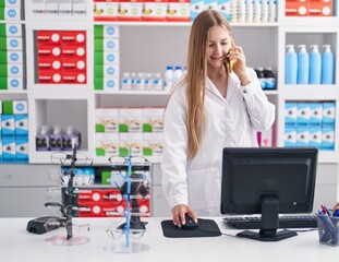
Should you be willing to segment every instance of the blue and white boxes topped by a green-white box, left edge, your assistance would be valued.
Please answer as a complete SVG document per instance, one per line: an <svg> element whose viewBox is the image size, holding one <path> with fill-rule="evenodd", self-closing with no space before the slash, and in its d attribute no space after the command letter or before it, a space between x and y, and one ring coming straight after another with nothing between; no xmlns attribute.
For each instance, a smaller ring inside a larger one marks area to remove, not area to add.
<svg viewBox="0 0 339 262"><path fill-rule="evenodd" d="M2 163L28 163L28 110L26 100L2 100L0 155Z"/></svg>

